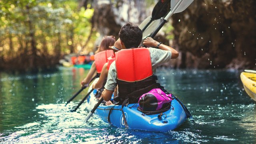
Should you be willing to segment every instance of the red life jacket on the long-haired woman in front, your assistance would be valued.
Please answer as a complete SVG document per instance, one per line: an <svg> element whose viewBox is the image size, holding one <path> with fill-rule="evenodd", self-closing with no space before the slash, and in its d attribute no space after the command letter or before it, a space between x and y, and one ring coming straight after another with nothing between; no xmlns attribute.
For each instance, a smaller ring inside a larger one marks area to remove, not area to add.
<svg viewBox="0 0 256 144"><path fill-rule="evenodd" d="M98 52L94 55L94 62L96 66L97 73L101 73L103 65L108 62L107 58L114 54L113 50L104 50L102 52Z"/></svg>

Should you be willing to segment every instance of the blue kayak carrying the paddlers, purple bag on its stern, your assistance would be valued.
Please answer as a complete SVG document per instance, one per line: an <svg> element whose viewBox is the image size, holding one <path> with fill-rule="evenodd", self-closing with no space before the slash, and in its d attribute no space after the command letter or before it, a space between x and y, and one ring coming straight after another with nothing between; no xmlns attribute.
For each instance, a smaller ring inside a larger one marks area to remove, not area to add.
<svg viewBox="0 0 256 144"><path fill-rule="evenodd" d="M88 92L90 90L91 87ZM98 99L91 93L87 99L88 109L92 110L97 102ZM162 114L145 115L137 110L138 106L139 104L128 104L123 108L130 129L165 132L178 128L187 119L185 111L175 99L171 102L171 108ZM114 126L125 127L121 107L121 105L105 106L100 104L95 110L95 114L105 122L110 121Z"/></svg>

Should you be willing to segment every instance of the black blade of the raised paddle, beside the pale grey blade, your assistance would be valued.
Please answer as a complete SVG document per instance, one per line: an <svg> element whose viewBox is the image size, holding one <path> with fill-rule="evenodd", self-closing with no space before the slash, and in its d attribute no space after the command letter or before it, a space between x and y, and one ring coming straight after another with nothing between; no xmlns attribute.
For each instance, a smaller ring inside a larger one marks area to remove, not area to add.
<svg viewBox="0 0 256 144"><path fill-rule="evenodd" d="M171 0L159 0L152 11L152 20L162 18L170 11Z"/></svg>

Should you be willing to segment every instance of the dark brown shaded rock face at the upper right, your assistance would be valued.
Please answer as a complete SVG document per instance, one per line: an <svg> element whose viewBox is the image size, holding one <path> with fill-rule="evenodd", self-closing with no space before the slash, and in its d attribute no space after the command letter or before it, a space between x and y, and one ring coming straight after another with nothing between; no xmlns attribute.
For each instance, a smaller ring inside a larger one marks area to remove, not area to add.
<svg viewBox="0 0 256 144"><path fill-rule="evenodd" d="M182 66L256 68L255 9L254 0L195 0L174 14L175 42L189 53L182 55Z"/></svg>

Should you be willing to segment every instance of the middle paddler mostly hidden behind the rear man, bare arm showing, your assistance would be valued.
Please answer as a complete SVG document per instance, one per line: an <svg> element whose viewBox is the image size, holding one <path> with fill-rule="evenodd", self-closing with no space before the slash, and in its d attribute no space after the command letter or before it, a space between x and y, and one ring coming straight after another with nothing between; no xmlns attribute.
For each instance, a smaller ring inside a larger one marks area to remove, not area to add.
<svg viewBox="0 0 256 144"><path fill-rule="evenodd" d="M112 50L114 50L114 52L120 50L121 49L120 39L118 38L118 40L116 40L114 46L110 46L110 48ZM114 62L114 60L115 60L115 55L113 54L112 56L110 56L108 58L108 62L104 64L98 82L96 82L95 84L92 85L93 89L100 90L104 86L104 84L106 84L106 80L108 78L108 70L110 68L110 64L112 64L112 62ZM117 95L117 93L116 93L116 89L115 89L114 96L116 96L116 95ZM113 104L111 101L106 102L106 105L111 105L111 104Z"/></svg>

